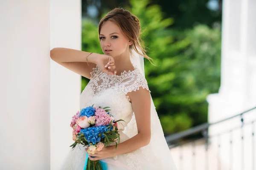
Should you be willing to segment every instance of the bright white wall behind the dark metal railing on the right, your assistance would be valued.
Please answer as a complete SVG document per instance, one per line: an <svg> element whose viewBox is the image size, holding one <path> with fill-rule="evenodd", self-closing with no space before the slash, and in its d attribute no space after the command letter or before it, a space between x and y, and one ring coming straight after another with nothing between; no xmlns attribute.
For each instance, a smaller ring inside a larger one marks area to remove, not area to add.
<svg viewBox="0 0 256 170"><path fill-rule="evenodd" d="M207 97L209 102L208 121L216 122L256 106L256 1L255 0L224 0L222 25L221 54L221 87L218 94ZM252 133L256 131L251 121L256 120L256 111L244 114L243 128L231 133L222 133L241 127L241 118L212 126L209 135L221 133L220 138L211 139L212 148L227 169L250 170L256 155L253 143L256 139ZM241 136L244 139L241 140ZM232 140L232 147L230 147ZM233 154L230 163L230 153ZM244 155L244 159L242 159ZM230 167L231 166L231 167Z"/></svg>

